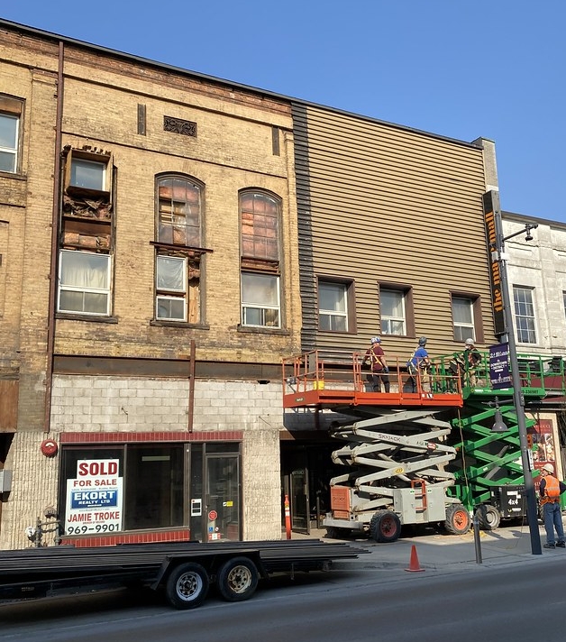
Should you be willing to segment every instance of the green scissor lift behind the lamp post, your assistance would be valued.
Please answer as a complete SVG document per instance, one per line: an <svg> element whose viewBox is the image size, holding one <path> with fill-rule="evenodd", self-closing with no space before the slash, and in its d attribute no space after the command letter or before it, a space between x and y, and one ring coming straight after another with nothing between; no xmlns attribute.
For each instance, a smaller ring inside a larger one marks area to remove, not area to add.
<svg viewBox="0 0 566 642"><path fill-rule="evenodd" d="M436 371L450 371L453 357L434 359ZM533 354L518 354L517 361L528 433L536 423L529 405L549 395L564 394L564 364L558 358ZM525 478L513 389L491 387L488 363L489 353L482 353L474 388L470 387L470 373L462 373L464 405L451 420L450 437L458 453L451 464L456 483L447 489L447 494L460 500L470 512L477 509L481 526L493 529L502 518L525 517ZM507 432L492 430L497 410Z"/></svg>

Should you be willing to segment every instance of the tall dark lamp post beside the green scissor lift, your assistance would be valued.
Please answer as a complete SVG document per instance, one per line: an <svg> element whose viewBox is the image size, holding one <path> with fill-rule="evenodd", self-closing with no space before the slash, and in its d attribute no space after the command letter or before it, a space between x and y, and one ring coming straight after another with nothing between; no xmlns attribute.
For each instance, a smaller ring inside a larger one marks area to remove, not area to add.
<svg viewBox="0 0 566 642"><path fill-rule="evenodd" d="M521 447L521 463L523 465L523 476L525 478L526 518L529 523L529 531L531 534L531 553L533 555L543 555L543 548L541 546L541 534L539 532L537 521L533 473L531 472L531 462L528 456L529 448L526 439L525 396L523 395L523 390L521 390L519 362L517 361L516 356L515 330L513 328L511 298L509 297L509 288L507 281L507 256L505 254L505 237L503 235L503 225L501 224L499 194L498 192L493 191L492 196L493 214L496 227L496 252L498 252L497 260L499 263L499 277L501 279L501 289L503 295L503 316L505 319L507 343L509 345L509 365L511 367L511 383L513 385L513 403L516 410L517 426L519 429L519 445Z"/></svg>

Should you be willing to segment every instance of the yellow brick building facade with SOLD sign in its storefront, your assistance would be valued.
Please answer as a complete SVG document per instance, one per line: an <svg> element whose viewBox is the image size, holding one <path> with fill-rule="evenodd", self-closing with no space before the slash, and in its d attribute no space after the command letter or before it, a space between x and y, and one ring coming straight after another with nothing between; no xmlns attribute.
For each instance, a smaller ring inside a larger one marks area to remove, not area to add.
<svg viewBox="0 0 566 642"><path fill-rule="evenodd" d="M0 71L0 547L280 537L290 105L13 23Z"/></svg>

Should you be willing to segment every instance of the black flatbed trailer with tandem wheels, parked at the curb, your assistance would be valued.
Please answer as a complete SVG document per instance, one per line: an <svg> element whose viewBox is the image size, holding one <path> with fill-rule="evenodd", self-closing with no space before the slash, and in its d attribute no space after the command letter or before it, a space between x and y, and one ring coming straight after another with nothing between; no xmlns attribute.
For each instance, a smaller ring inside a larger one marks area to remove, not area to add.
<svg viewBox="0 0 566 642"><path fill-rule="evenodd" d="M111 586L165 593L175 609L194 609L215 583L226 601L251 598L272 573L329 570L333 560L368 551L319 539L179 542L117 546L52 546L0 552L0 600Z"/></svg>

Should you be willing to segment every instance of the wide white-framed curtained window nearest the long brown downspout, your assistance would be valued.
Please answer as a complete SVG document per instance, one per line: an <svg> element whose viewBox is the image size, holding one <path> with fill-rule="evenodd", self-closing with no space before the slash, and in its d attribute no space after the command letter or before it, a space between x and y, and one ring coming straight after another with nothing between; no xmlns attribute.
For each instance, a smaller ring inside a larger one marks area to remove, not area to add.
<svg viewBox="0 0 566 642"><path fill-rule="evenodd" d="M109 315L110 265L108 254L61 250L58 311Z"/></svg>

